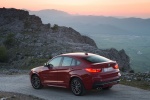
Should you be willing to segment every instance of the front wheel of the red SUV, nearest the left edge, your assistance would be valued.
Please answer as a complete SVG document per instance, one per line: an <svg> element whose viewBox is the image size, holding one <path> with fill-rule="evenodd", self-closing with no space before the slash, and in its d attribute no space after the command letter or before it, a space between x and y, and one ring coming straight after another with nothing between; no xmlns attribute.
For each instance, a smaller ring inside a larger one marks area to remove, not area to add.
<svg viewBox="0 0 150 100"><path fill-rule="evenodd" d="M41 80L37 75L33 75L31 77L31 84L35 89L41 89L43 85L41 84Z"/></svg>

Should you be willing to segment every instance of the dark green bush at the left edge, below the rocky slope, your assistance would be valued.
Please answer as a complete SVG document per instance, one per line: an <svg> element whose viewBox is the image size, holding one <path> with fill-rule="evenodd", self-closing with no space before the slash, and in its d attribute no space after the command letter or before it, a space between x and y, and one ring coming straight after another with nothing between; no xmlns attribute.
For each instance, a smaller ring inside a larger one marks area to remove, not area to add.
<svg viewBox="0 0 150 100"><path fill-rule="evenodd" d="M0 62L8 61L8 53L5 46L0 46Z"/></svg>

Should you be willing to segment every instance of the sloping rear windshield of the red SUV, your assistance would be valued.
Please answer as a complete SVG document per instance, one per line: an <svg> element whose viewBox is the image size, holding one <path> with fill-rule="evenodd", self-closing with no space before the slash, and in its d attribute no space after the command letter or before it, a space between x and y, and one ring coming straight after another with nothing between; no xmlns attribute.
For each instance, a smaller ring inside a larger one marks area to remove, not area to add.
<svg viewBox="0 0 150 100"><path fill-rule="evenodd" d="M94 56L89 56L84 58L86 61L91 62L91 63L101 63L101 62L109 62L111 60L102 57L102 56L98 56L98 55L94 55Z"/></svg>

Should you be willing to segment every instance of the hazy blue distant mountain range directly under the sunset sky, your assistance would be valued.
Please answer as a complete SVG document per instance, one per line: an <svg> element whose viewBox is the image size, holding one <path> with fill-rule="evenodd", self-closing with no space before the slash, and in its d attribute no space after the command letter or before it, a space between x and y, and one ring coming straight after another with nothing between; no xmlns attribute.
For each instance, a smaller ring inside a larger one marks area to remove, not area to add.
<svg viewBox="0 0 150 100"><path fill-rule="evenodd" d="M70 15L57 10L29 11L29 13L41 17L43 23L70 26L83 34L150 33L150 19Z"/></svg>

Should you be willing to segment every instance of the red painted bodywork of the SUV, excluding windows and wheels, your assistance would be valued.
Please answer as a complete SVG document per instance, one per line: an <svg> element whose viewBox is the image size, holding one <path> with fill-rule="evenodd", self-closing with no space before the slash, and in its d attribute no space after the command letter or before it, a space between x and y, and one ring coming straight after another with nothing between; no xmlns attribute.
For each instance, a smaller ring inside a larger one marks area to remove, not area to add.
<svg viewBox="0 0 150 100"><path fill-rule="evenodd" d="M42 85L70 88L72 78L80 78L86 90L91 90L97 87L108 87L119 82L121 76L118 68L115 68L115 61L102 63L91 63L83 58L93 54L71 53L63 54L56 57L70 57L80 62L77 66L58 66L54 68L40 66L31 69L30 77L36 74L39 76ZM54 58L56 58L54 57ZM88 72L86 68L98 69L101 72Z"/></svg>

